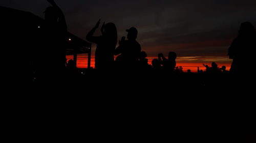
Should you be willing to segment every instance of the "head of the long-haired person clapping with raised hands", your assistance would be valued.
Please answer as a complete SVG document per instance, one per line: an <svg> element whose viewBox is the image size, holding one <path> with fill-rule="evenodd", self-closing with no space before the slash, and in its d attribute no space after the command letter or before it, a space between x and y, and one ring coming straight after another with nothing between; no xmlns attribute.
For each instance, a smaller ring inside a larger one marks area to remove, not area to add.
<svg viewBox="0 0 256 143"><path fill-rule="evenodd" d="M106 37L107 40L110 40L114 42L115 44L117 43L117 30L116 30L116 25L112 22L106 23L103 28L103 37Z"/></svg>

